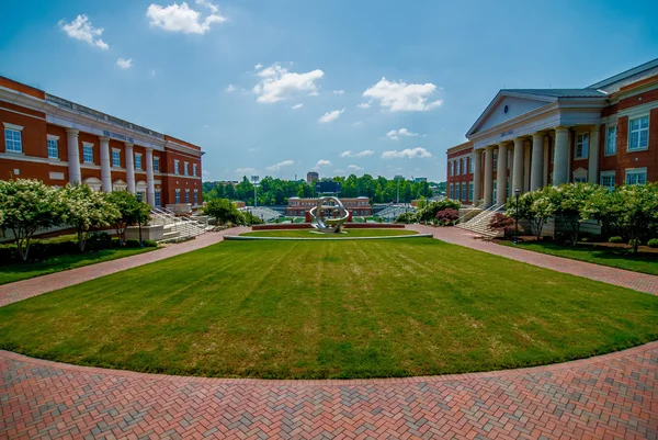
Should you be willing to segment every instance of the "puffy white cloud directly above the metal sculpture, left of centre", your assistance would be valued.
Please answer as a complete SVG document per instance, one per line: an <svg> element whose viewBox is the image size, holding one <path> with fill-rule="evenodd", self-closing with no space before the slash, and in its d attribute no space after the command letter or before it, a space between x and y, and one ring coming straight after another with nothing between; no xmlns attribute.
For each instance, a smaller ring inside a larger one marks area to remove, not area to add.
<svg viewBox="0 0 658 440"><path fill-rule="evenodd" d="M318 94L316 82L325 76L325 72L316 69L296 74L274 64L259 70L257 75L261 78L261 81L253 87L253 92L258 94L258 102L272 103L300 93Z"/></svg>

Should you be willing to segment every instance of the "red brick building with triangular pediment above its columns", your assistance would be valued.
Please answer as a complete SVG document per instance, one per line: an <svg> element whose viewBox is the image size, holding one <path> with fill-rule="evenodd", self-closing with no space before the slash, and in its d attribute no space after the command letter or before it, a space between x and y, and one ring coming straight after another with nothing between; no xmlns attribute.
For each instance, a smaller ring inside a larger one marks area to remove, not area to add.
<svg viewBox="0 0 658 440"><path fill-rule="evenodd" d="M504 204L548 184L658 180L658 59L583 89L503 89L447 150L447 195ZM466 167L466 168L464 168Z"/></svg>

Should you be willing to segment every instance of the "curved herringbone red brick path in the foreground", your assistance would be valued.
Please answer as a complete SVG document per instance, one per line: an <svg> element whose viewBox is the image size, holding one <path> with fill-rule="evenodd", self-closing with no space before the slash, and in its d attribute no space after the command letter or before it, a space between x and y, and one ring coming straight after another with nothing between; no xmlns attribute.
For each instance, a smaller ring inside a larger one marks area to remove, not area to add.
<svg viewBox="0 0 658 440"><path fill-rule="evenodd" d="M656 439L658 342L499 373L174 377L0 351L0 438Z"/></svg>

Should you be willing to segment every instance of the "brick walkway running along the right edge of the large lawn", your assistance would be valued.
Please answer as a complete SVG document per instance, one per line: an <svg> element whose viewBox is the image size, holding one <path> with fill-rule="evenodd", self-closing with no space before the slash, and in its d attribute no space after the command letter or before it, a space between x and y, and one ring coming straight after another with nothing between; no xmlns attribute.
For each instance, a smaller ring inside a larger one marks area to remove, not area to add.
<svg viewBox="0 0 658 440"><path fill-rule="evenodd" d="M518 249L510 246L501 246L477 239L479 237L477 234L457 227L429 227L422 225L409 225L407 227L423 234L433 234L434 238L445 242L495 253L497 256L523 261L529 264L552 269L558 272L570 273L572 275L585 277L591 280L658 295L658 277L656 275L592 264L585 261L533 252L532 250Z"/></svg>

